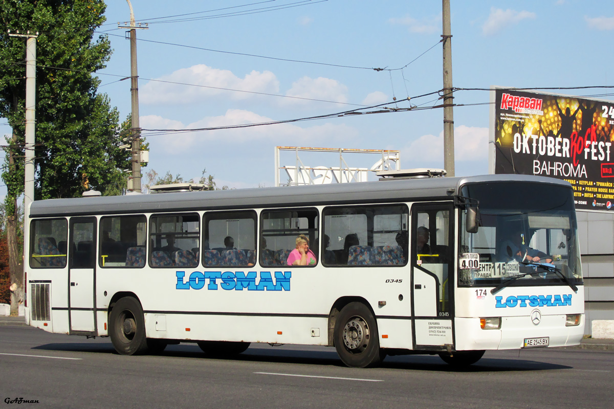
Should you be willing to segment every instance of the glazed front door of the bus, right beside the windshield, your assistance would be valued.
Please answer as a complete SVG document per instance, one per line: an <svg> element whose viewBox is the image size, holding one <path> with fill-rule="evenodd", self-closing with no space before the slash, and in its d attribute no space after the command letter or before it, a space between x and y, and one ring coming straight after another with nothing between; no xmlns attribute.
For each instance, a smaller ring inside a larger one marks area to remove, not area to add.
<svg viewBox="0 0 614 409"><path fill-rule="evenodd" d="M411 208L411 315L416 350L453 348L452 204Z"/></svg>

